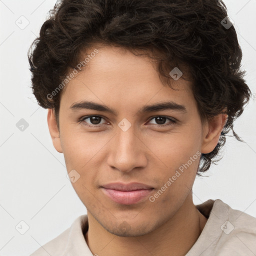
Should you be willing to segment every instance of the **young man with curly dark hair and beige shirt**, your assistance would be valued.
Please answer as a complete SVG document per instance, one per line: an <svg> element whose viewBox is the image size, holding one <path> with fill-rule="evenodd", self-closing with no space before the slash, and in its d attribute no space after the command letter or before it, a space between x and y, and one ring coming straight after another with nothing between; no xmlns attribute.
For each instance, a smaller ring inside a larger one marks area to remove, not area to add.
<svg viewBox="0 0 256 256"><path fill-rule="evenodd" d="M31 255L256 255L254 217L192 201L249 100L240 61L222 1L58 2L32 88L87 214Z"/></svg>

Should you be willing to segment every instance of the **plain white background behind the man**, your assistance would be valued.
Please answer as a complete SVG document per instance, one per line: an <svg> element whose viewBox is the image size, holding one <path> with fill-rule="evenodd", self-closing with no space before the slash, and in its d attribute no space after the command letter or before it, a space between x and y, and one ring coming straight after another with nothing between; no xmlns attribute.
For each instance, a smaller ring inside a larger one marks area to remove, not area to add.
<svg viewBox="0 0 256 256"><path fill-rule="evenodd" d="M243 51L245 79L256 93L256 0L224 2ZM54 3L0 0L0 255L29 255L86 214L66 178L63 155L52 145L47 110L38 107L29 87L27 50ZM15 23L21 15L29 21L24 29ZM251 100L235 122L246 143L227 137L219 164L208 177L196 178L195 204L219 198L256 217L255 110ZM16 127L21 118L29 124L24 131ZM23 235L15 229L21 220L29 226Z"/></svg>

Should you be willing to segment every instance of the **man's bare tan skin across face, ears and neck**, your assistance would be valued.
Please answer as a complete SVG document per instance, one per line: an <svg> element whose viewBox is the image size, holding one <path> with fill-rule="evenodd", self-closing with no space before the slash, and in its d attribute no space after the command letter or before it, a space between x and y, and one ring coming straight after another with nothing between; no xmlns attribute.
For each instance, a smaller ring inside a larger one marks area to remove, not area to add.
<svg viewBox="0 0 256 256"><path fill-rule="evenodd" d="M214 149L226 115L202 122L191 82L170 78L178 88L173 90L162 84L148 57L110 45L97 49L61 94L59 130L52 109L47 117L53 145L64 154L67 171L75 169L80 175L72 185L87 209L86 242L99 256L185 255L207 221L192 201L199 157L153 202L146 197L136 204L119 204L100 186L136 181L152 186L150 195L155 194L197 151ZM70 109L84 99L105 104L117 115ZM138 113L140 107L164 100L184 105L186 112ZM98 124L90 118L79 122L87 115L103 118ZM163 115L177 122L153 118ZM131 124L126 131L118 126L123 118ZM162 123L170 125L161 127Z"/></svg>

